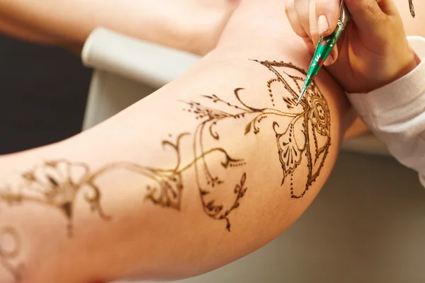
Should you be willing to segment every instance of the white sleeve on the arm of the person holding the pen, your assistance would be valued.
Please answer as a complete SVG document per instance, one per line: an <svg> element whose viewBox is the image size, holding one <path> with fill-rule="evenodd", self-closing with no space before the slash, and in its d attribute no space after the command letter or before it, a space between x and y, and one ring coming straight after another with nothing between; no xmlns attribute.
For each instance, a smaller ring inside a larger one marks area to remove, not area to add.
<svg viewBox="0 0 425 283"><path fill-rule="evenodd" d="M425 187L425 38L408 37L421 59L406 76L370 93L347 93L369 129Z"/></svg>

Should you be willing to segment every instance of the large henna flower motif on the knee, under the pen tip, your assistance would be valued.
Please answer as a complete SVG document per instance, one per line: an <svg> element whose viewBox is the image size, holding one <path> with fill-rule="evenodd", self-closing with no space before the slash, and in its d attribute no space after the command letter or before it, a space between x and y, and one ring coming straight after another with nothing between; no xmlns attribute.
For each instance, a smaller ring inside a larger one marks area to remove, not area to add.
<svg viewBox="0 0 425 283"><path fill-rule="evenodd" d="M255 61L255 60L254 60ZM255 61L259 62L259 61ZM276 132L278 153L283 169L283 180L290 178L290 195L300 198L310 189L312 183L319 176L324 161L331 146L331 115L327 101L316 83L312 83L305 97L297 105L297 99L304 82L305 70L285 62L259 62L268 68L277 79L276 84L283 86L289 96L283 97L283 116L290 117L290 122L285 127L281 123L273 122ZM268 86L273 93L273 85ZM297 172L299 166L308 169L307 176ZM293 180L304 180L305 187L297 191Z"/></svg>

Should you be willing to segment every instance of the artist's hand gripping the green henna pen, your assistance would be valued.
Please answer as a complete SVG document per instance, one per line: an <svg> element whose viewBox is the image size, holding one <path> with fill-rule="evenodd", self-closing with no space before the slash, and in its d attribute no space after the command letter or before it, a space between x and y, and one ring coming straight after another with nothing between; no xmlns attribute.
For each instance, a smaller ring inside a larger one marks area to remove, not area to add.
<svg viewBox="0 0 425 283"><path fill-rule="evenodd" d="M324 65L346 91L372 91L416 67L393 0L344 3L352 18ZM291 26L310 52L314 53L319 36L327 36L336 28L339 4L340 0L286 1Z"/></svg>

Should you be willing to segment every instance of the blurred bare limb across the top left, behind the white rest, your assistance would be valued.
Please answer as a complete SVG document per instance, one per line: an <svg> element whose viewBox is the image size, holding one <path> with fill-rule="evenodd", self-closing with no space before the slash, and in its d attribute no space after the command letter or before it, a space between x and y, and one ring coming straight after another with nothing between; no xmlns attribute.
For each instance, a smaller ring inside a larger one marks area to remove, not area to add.
<svg viewBox="0 0 425 283"><path fill-rule="evenodd" d="M196 54L217 44L237 3L227 0L0 0L0 30L22 40L81 51L98 26ZM125 19L125 21L123 21Z"/></svg>

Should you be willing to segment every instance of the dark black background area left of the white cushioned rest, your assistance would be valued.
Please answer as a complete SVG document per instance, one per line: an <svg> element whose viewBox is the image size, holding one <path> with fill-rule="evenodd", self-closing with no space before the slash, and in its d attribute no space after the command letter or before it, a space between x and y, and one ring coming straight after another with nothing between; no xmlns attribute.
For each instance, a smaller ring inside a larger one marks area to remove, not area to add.
<svg viewBox="0 0 425 283"><path fill-rule="evenodd" d="M74 54L0 35L0 154L80 132L90 79Z"/></svg>

